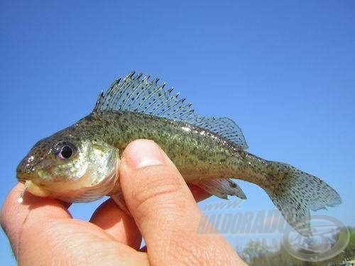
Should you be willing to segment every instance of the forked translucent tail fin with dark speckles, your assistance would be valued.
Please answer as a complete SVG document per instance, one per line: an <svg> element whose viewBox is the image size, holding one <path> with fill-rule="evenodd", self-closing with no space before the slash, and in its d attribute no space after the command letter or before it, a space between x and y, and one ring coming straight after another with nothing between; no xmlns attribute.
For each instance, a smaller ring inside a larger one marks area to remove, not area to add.
<svg viewBox="0 0 355 266"><path fill-rule="evenodd" d="M310 236L310 210L342 203L339 194L318 177L282 162L269 162L263 188L285 220L301 235Z"/></svg>

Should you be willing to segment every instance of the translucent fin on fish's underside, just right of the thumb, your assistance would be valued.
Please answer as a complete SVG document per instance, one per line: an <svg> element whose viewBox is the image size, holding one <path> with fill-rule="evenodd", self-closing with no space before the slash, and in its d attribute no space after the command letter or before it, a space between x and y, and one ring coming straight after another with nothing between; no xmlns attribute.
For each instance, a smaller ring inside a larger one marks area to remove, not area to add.
<svg viewBox="0 0 355 266"><path fill-rule="evenodd" d="M241 190L238 184L233 182L231 179L205 179L198 182L193 182L204 189L204 191L218 196L221 199L228 199L230 196L238 196L240 199L246 199L246 195Z"/></svg>

